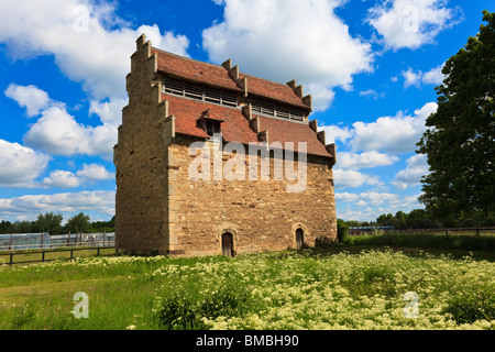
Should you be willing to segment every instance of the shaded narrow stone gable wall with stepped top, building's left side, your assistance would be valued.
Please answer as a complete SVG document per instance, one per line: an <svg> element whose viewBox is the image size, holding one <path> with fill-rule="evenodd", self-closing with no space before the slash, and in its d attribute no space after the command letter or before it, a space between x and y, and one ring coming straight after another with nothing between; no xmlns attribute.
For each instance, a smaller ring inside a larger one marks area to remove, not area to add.
<svg viewBox="0 0 495 352"><path fill-rule="evenodd" d="M136 42L127 77L129 105L122 110L116 164L116 246L127 253L168 250L167 143L173 119L155 82L156 57L151 43Z"/></svg>

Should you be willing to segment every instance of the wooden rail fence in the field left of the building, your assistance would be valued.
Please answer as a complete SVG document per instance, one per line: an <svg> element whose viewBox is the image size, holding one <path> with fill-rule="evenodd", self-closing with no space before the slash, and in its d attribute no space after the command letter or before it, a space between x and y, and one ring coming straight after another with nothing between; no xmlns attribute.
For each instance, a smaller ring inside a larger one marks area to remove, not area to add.
<svg viewBox="0 0 495 352"><path fill-rule="evenodd" d="M113 246L114 244L114 232L67 233L57 235L50 235L45 232L0 234L0 252L61 249L68 246Z"/></svg>

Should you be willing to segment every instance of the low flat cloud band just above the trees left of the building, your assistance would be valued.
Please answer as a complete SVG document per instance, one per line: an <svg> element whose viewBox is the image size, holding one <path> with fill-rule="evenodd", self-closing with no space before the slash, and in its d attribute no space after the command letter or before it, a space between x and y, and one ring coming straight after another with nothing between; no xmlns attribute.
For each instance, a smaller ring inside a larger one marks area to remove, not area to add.
<svg viewBox="0 0 495 352"><path fill-rule="evenodd" d="M35 219L38 213L56 212L74 216L80 211L108 218L114 215L116 193L94 190L55 195L28 195L0 198L0 218L19 217Z"/></svg>

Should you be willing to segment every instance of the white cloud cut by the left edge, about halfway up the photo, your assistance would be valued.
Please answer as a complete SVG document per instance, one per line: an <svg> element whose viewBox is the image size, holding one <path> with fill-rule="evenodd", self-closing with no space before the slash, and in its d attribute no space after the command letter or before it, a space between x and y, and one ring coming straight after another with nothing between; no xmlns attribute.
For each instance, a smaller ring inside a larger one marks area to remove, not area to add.
<svg viewBox="0 0 495 352"><path fill-rule="evenodd" d="M32 187L48 161L46 154L0 140L0 186Z"/></svg>

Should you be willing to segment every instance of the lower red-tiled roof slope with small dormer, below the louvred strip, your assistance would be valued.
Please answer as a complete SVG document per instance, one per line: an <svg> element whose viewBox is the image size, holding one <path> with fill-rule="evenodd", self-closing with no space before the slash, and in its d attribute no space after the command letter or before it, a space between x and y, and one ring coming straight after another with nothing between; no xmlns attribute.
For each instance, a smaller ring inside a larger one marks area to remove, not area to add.
<svg viewBox="0 0 495 352"><path fill-rule="evenodd" d="M186 99L168 94L162 94L164 100L168 100L168 114L175 117L175 132L197 138L209 138L205 130L198 124L206 110L210 110L210 116L221 119L221 133L227 142L240 142L249 144L258 142L257 133L249 124L248 119L242 114L241 109L217 106L208 102ZM256 117L256 116L253 116ZM317 134L308 123L285 121L282 119L260 116L260 131L268 131L268 143L280 142L285 147L285 142L294 142L297 151L297 142L307 143L307 153L331 157L324 145L318 140Z"/></svg>

